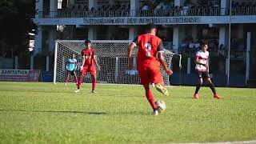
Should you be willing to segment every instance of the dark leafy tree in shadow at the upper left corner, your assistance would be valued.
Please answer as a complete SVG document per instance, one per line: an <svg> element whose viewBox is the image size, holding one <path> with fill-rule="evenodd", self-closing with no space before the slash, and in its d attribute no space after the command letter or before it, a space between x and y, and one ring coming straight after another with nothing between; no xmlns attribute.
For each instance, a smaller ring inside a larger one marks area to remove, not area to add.
<svg viewBox="0 0 256 144"><path fill-rule="evenodd" d="M37 26L31 19L35 14L35 0L0 1L0 50L13 49L25 52L30 33L37 33Z"/></svg>

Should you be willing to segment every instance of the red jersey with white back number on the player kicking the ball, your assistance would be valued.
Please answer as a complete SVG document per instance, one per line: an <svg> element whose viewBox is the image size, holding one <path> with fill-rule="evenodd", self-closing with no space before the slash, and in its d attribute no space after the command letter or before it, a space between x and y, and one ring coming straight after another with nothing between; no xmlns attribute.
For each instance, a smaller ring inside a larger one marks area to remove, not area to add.
<svg viewBox="0 0 256 144"><path fill-rule="evenodd" d="M153 34L142 34L139 35L138 38L135 38L133 43L138 45L138 70L142 70L146 67L155 70L160 68L157 53L163 51L161 38Z"/></svg>

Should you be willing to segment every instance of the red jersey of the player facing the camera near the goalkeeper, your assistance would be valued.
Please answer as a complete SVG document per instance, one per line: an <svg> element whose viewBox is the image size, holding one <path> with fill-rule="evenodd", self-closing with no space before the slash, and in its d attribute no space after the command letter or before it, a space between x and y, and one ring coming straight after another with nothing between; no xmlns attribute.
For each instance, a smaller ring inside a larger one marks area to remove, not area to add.
<svg viewBox="0 0 256 144"><path fill-rule="evenodd" d="M84 67L94 67L94 48L90 48L90 49L83 49L81 51L81 55L82 56L85 56L85 64L83 65Z"/></svg>

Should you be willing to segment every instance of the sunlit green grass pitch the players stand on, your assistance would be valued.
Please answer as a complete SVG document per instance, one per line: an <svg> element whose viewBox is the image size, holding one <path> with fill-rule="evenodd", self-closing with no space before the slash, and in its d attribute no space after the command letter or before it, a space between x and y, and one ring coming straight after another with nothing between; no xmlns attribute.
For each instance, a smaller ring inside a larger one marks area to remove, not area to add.
<svg viewBox="0 0 256 144"><path fill-rule="evenodd" d="M0 82L0 143L230 142L256 139L256 89L154 90L167 109L151 116L142 86Z"/></svg>

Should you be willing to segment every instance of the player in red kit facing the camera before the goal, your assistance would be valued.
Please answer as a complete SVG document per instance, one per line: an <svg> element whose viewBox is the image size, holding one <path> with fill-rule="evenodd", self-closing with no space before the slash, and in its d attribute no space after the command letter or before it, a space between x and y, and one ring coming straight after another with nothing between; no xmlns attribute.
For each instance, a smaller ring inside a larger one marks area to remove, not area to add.
<svg viewBox="0 0 256 144"><path fill-rule="evenodd" d="M78 93L80 91L80 86L82 83L82 79L87 73L90 73L92 76L92 93L95 93L96 88L96 69L95 66L100 70L100 66L98 66L98 63L96 61L95 55L94 55L94 48L90 46L90 40L85 41L86 48L82 50L82 66L80 66L80 78L78 81L78 90L74 90L75 93Z"/></svg>

